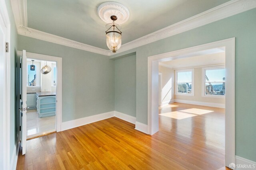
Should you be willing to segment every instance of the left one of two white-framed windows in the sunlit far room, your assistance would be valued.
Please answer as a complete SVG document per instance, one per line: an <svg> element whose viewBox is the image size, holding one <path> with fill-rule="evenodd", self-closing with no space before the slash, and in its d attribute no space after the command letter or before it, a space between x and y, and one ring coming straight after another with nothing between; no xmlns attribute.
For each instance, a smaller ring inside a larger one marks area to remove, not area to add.
<svg viewBox="0 0 256 170"><path fill-rule="evenodd" d="M194 69L175 70L176 95L194 96Z"/></svg>

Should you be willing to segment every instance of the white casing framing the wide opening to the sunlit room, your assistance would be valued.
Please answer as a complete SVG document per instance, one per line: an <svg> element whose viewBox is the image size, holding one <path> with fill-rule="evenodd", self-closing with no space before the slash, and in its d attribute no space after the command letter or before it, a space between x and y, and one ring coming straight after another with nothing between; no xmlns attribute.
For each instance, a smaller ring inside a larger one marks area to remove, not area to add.
<svg viewBox="0 0 256 170"><path fill-rule="evenodd" d="M159 131L158 122L158 64L191 57L193 53L225 47L226 53L226 113L225 113L225 165L235 163L235 38L224 39L177 51L148 57L148 134Z"/></svg>

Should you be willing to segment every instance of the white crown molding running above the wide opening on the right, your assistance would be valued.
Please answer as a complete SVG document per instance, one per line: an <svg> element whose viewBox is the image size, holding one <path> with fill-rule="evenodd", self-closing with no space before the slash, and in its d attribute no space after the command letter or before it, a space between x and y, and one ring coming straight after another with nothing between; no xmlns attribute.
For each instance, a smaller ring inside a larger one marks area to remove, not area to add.
<svg viewBox="0 0 256 170"><path fill-rule="evenodd" d="M152 43L158 41L160 39L164 39L185 31L189 31L191 29L206 25L208 23L212 23L214 21L222 20L224 18L228 18L235 14L239 14L241 12L245 12L247 10L256 8L256 0L231 0L215 8L192 16L186 20L180 21L178 23L174 23L168 27L130 41L120 47L120 49L116 52L121 53L130 49L134 49L136 47L140 47L142 45L146 45L148 43Z"/></svg>

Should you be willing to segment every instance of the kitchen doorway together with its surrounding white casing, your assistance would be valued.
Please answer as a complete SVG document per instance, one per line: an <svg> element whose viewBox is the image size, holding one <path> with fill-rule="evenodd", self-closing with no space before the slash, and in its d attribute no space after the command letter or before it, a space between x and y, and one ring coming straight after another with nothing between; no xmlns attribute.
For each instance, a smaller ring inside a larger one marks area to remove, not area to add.
<svg viewBox="0 0 256 170"><path fill-rule="evenodd" d="M24 139L29 140L61 131L62 58L26 51L18 51L18 55L24 56L24 52L26 63L22 64L22 71L26 85L22 93L26 94L26 130L22 128L22 132ZM41 69L46 65L51 71L43 74L46 70ZM22 146L25 153L26 145Z"/></svg>

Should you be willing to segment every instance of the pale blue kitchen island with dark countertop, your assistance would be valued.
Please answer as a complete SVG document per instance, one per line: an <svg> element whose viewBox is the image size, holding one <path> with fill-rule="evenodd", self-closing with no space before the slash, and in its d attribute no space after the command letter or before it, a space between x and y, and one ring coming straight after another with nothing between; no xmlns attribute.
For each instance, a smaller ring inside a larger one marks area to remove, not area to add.
<svg viewBox="0 0 256 170"><path fill-rule="evenodd" d="M36 92L36 111L40 118L55 115L56 93Z"/></svg>

